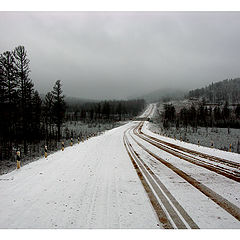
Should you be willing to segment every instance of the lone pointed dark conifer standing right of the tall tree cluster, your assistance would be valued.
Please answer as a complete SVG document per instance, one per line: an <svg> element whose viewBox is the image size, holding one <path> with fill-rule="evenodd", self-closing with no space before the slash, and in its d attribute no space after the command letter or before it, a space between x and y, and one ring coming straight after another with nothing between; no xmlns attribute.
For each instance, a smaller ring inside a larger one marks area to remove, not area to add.
<svg viewBox="0 0 240 240"><path fill-rule="evenodd" d="M53 95L53 120L57 125L57 138L60 141L61 138L61 125L64 120L66 104L64 101L64 95L62 95L62 84L60 80L57 80L52 91Z"/></svg>

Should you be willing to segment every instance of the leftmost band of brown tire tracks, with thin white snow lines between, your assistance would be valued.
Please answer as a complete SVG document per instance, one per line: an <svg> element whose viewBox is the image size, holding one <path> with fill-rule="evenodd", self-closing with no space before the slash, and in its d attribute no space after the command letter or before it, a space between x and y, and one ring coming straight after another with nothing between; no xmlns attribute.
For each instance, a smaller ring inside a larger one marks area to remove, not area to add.
<svg viewBox="0 0 240 240"><path fill-rule="evenodd" d="M199 228L151 169L134 151L124 134L124 145L164 228Z"/></svg>

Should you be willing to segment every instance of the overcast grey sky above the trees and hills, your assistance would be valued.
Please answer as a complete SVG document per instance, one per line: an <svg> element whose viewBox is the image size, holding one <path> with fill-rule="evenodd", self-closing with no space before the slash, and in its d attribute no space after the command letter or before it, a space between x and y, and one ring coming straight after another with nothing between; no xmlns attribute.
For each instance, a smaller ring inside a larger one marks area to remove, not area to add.
<svg viewBox="0 0 240 240"><path fill-rule="evenodd" d="M240 77L240 12L0 12L0 52L24 45L40 93L126 98Z"/></svg>

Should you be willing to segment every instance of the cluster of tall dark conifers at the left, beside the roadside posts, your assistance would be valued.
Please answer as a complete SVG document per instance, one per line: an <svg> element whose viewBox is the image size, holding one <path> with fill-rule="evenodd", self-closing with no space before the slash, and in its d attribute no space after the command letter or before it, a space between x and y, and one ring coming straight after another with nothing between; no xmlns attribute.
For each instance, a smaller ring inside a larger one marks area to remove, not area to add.
<svg viewBox="0 0 240 240"><path fill-rule="evenodd" d="M60 80L42 100L30 78L29 64L24 46L0 55L1 159L11 155L13 146L21 146L22 152L27 154L27 143L42 139L48 141L56 136L60 138L60 126L65 114ZM54 134L51 124L58 129Z"/></svg>

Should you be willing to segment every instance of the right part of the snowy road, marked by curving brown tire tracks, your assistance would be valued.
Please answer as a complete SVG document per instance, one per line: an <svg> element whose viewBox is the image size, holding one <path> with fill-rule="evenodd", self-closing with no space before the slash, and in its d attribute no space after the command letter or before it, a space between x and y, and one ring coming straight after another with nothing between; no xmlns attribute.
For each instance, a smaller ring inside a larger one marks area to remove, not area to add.
<svg viewBox="0 0 240 240"><path fill-rule="evenodd" d="M137 123L125 139L143 182L160 199L160 222L170 228L240 228L239 155L166 138L147 125Z"/></svg>

